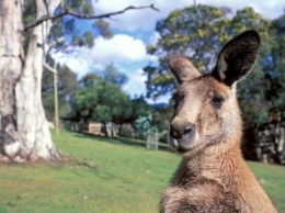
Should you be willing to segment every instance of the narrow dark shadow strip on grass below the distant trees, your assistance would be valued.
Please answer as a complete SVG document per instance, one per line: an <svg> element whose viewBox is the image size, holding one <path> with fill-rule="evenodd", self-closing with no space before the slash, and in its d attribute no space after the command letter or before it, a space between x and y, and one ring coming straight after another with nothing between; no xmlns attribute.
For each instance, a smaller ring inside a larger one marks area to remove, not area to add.
<svg viewBox="0 0 285 213"><path fill-rule="evenodd" d="M75 132L72 132L72 133L75 133ZM122 137L122 138L121 137L118 137L118 138L104 137L104 136L92 135L92 134L88 134L88 133L76 133L75 136L81 137L81 138L96 139L100 142L107 142L107 143L112 143L112 144L122 144L122 145L127 145L127 146L137 146L137 147L146 148L146 142L139 141L139 139L133 139L133 138L126 138L126 137ZM162 144L162 143L159 143L159 150L173 153L173 150L171 149L171 147L168 144Z"/></svg>

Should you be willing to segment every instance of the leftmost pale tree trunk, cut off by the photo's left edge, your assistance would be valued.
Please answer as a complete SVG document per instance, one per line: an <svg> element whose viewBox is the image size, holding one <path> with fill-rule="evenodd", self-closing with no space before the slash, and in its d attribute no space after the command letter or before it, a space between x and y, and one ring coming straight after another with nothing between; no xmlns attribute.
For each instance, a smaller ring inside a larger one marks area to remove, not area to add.
<svg viewBox="0 0 285 213"><path fill-rule="evenodd" d="M21 75L22 61L21 4L0 1L0 160L16 156L20 142L16 134L14 87Z"/></svg>

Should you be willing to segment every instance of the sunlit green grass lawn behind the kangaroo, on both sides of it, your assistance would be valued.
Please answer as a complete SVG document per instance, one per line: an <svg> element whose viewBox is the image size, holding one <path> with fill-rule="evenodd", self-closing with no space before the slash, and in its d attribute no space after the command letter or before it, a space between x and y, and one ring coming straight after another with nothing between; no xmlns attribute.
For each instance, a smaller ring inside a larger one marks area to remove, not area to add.
<svg viewBox="0 0 285 213"><path fill-rule="evenodd" d="M0 165L0 213L151 213L180 158L139 142L60 132L64 164ZM285 213L285 169L250 162Z"/></svg>

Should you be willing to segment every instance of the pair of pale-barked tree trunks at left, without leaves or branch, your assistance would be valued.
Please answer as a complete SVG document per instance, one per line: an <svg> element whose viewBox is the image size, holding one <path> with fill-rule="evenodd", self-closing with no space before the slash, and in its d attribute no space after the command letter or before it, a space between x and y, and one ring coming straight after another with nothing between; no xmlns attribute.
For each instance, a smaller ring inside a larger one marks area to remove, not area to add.
<svg viewBox="0 0 285 213"><path fill-rule="evenodd" d="M46 2L53 14L60 0ZM22 66L20 1L2 0L0 7L0 156L16 161L59 160L60 154L52 141L41 96L45 45L52 22L32 29ZM36 7L37 19L48 14L43 0L36 0Z"/></svg>

